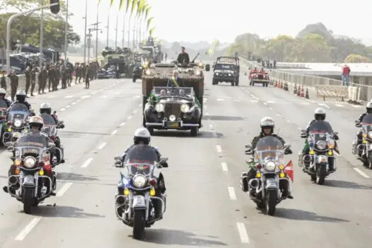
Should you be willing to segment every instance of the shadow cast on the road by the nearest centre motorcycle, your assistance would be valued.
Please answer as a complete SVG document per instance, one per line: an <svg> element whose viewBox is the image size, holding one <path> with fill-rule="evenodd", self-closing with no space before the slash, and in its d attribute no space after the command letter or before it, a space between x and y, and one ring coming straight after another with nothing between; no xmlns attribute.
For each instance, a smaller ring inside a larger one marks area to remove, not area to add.
<svg viewBox="0 0 372 248"><path fill-rule="evenodd" d="M197 237L192 232L184 232L181 230L148 229L145 231L145 239L143 239L143 242L198 247L227 246L227 244L223 242L212 240L218 237L206 236L205 239L202 237L203 236Z"/></svg>

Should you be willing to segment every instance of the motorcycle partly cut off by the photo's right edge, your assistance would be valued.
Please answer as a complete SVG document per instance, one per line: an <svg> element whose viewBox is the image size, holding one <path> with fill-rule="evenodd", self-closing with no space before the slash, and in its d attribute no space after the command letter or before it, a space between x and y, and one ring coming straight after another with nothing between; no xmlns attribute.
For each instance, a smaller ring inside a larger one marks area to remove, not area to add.
<svg viewBox="0 0 372 248"><path fill-rule="evenodd" d="M361 123L355 121L355 126L361 128L362 139L353 140L352 153L363 162L364 167L372 169L372 115L368 114L363 117ZM360 144L358 145L358 141Z"/></svg>

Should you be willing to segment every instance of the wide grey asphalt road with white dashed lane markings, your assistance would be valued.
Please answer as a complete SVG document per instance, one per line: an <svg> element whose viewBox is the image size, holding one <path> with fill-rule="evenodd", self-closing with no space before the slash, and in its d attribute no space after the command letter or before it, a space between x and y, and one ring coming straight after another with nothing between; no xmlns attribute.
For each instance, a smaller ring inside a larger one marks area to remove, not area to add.
<svg viewBox="0 0 372 248"><path fill-rule="evenodd" d="M142 123L138 81L100 80L91 89L74 86L30 98L35 111L49 101L66 128L60 131L66 163L57 168L57 196L48 198L33 215L0 193L1 247L369 247L372 235L372 171L351 154L356 128L353 120L363 108L347 104L306 101L288 92L248 86L211 85L205 78L205 120L198 137L187 132L159 132L152 145L169 157L163 169L167 186L164 219L146 230L143 241L116 220L115 186L119 171L113 157L132 144ZM312 184L297 167L305 127L320 104L339 131L342 156L337 172L324 186ZM335 104L343 105L342 107ZM293 200L280 205L276 216L256 209L239 188L247 169L244 144L259 133L259 120L271 116L294 154ZM6 184L9 154L0 154L0 182ZM55 204L55 205L54 205Z"/></svg>

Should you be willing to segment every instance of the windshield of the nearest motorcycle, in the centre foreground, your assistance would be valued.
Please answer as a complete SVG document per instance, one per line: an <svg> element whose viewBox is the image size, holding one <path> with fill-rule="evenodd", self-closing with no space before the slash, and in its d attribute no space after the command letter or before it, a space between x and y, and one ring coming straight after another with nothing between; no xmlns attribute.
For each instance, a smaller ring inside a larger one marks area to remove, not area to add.
<svg viewBox="0 0 372 248"><path fill-rule="evenodd" d="M135 145L125 154L124 164L132 175L137 173L148 175L157 161L157 152L153 147Z"/></svg>

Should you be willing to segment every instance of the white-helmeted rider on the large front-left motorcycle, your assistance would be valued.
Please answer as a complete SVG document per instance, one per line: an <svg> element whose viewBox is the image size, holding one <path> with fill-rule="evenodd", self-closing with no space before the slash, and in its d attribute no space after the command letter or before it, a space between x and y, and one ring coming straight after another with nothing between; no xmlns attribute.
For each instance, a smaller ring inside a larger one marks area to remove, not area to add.
<svg viewBox="0 0 372 248"><path fill-rule="evenodd" d="M47 138L44 135L41 134L41 130L43 129L43 126L44 126L43 118L41 118L40 116L32 116L30 118L29 125L30 125L30 130L28 130L28 132L23 134L23 135L29 135L29 136L33 136L33 137L44 137L45 138L45 143L48 143ZM11 167L9 169L9 176L16 174L16 168L17 167L16 167L15 164L11 164ZM52 181L55 181L55 180L53 180L54 173L53 173L52 168L50 166L49 167L45 166L44 171L45 171L46 176L49 176L50 179L52 179ZM48 181L45 181L45 184L48 184ZM11 193L14 194L14 193L16 193L16 190L18 188L19 188L19 183L14 185L14 186L11 186L9 188L9 190L11 191ZM50 188L52 190L51 195L55 196L55 193L53 192L54 186L52 186ZM8 186L4 186L3 190L6 193L9 193L8 192Z"/></svg>

